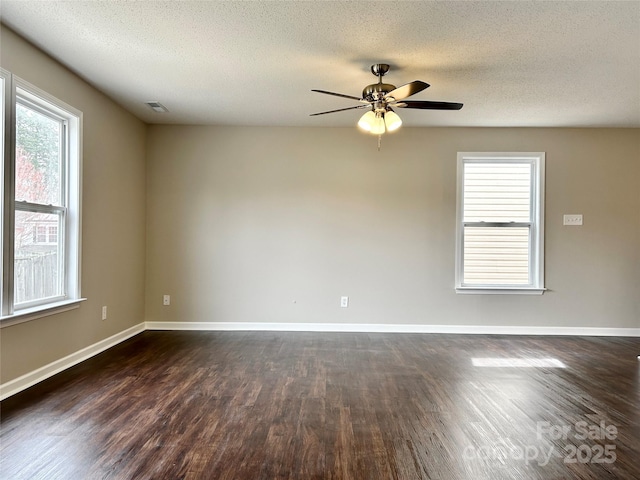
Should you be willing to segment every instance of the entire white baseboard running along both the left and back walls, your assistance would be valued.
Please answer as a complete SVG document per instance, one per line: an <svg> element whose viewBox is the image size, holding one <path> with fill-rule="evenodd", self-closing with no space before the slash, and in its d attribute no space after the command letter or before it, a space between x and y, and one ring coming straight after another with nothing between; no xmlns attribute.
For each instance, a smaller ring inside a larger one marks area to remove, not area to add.
<svg viewBox="0 0 640 480"><path fill-rule="evenodd" d="M456 333L484 335L571 335L640 337L640 328L517 327L485 325L394 325L364 323L258 323L258 322L145 322L105 338L60 360L0 385L0 400L15 395L145 330L352 332L352 333Z"/></svg>

